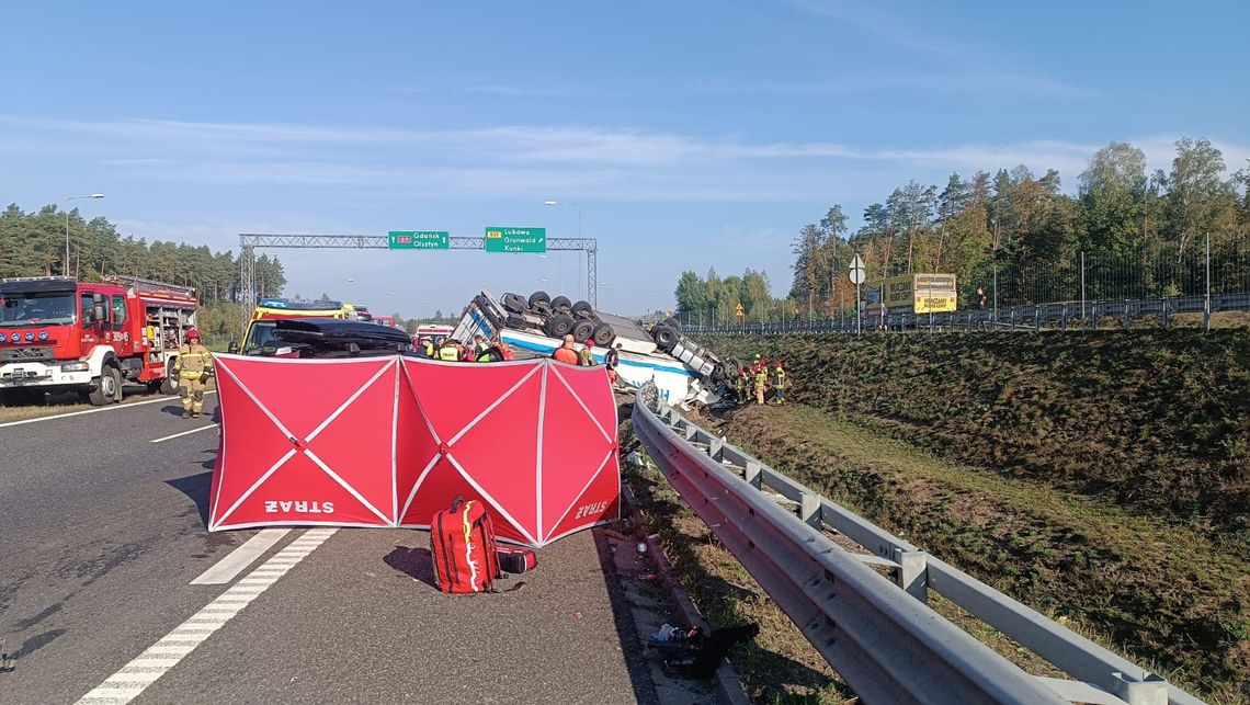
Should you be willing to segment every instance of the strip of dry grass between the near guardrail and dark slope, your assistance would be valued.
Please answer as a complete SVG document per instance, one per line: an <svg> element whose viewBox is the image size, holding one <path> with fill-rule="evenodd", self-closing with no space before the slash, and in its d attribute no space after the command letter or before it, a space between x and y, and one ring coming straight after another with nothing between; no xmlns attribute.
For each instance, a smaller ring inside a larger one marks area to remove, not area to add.
<svg viewBox="0 0 1250 705"><path fill-rule="evenodd" d="M801 406L726 429L761 460L1212 702L1250 701L1250 560L1210 535L934 458ZM935 609L1030 672L1040 660Z"/></svg>

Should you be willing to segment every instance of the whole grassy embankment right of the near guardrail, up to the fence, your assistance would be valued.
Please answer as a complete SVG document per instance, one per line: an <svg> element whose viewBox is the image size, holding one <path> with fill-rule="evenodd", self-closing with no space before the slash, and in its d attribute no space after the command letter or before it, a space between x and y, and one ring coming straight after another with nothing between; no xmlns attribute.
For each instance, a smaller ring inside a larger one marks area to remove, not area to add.
<svg viewBox="0 0 1250 705"><path fill-rule="evenodd" d="M718 339L808 408L726 432L1215 701L1250 700L1250 334ZM891 438L892 436L892 438Z"/></svg>

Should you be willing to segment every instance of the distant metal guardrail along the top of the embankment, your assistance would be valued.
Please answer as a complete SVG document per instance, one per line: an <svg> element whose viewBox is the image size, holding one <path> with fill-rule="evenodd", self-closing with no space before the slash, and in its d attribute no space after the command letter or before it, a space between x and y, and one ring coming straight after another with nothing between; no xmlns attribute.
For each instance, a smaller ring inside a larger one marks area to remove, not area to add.
<svg viewBox="0 0 1250 705"><path fill-rule="evenodd" d="M882 316L865 316L862 330L876 330L882 325L888 330L1042 330L1058 328L1090 329L1099 321L1116 319L1129 329L1134 320L1156 319L1161 325L1170 325L1176 314L1210 314L1220 311L1250 311L1250 292L1212 294L1210 308L1205 296L1172 296L1162 299L1130 300L1092 300L1056 301L1028 306L999 306L998 311L972 309L949 314L911 314L896 312ZM1205 324L1204 324L1205 325ZM682 325L689 335L760 335L772 332L855 332L855 319L845 320L799 320L786 324L744 324L744 325Z"/></svg>

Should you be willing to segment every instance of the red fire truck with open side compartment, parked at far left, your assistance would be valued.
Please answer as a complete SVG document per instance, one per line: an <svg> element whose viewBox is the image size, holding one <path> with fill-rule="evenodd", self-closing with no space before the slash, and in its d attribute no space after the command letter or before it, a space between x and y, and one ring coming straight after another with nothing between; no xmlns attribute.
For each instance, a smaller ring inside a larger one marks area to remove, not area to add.
<svg viewBox="0 0 1250 705"><path fill-rule="evenodd" d="M131 276L0 280L0 404L78 391L104 406L128 382L172 394L195 309L194 289Z"/></svg>

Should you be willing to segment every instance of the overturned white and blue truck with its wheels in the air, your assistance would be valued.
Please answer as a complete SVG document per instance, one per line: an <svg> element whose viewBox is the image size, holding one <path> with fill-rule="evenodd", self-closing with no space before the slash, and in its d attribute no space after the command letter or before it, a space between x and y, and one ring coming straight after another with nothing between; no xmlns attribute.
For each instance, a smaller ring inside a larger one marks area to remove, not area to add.
<svg viewBox="0 0 1250 705"><path fill-rule="evenodd" d="M550 355L570 334L579 349L589 345L599 362L615 348L618 384L641 388L654 382L669 404L718 401L729 372L711 351L682 336L675 319L645 326L596 311L586 301L552 299L545 291L529 298L510 292L495 299L482 290L465 309L451 335L471 340L476 334L485 338L498 334L519 358Z"/></svg>

